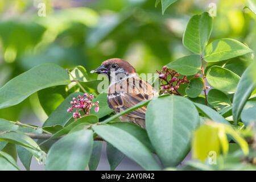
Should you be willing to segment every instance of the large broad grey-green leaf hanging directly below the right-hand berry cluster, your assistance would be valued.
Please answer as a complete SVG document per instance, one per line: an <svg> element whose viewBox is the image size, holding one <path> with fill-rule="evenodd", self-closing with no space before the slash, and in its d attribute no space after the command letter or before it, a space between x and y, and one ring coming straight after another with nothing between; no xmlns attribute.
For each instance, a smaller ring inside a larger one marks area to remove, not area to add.
<svg viewBox="0 0 256 182"><path fill-rule="evenodd" d="M152 100L146 111L146 129L164 167L179 164L190 149L192 132L200 125L196 107L187 98Z"/></svg>

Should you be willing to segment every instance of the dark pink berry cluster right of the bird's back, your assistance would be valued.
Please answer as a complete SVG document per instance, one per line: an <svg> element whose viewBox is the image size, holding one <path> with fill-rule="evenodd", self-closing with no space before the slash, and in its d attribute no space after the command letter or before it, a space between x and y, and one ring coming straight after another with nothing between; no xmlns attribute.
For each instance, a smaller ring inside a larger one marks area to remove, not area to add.
<svg viewBox="0 0 256 182"><path fill-rule="evenodd" d="M164 66L162 71L157 71L161 81L160 93L178 94L180 85L189 83L187 76L180 77L180 73L177 73L173 69Z"/></svg>

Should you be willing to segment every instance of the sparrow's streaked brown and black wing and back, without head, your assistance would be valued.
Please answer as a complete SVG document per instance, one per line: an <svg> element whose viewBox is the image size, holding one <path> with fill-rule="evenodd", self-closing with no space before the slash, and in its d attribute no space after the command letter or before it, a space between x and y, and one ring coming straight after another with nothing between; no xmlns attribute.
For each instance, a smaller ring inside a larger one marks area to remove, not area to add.
<svg viewBox="0 0 256 182"><path fill-rule="evenodd" d="M155 89L146 81L138 77L130 77L110 86L108 103L110 108L119 113L157 95ZM141 107L126 115L128 117L144 119L145 114L146 107Z"/></svg>

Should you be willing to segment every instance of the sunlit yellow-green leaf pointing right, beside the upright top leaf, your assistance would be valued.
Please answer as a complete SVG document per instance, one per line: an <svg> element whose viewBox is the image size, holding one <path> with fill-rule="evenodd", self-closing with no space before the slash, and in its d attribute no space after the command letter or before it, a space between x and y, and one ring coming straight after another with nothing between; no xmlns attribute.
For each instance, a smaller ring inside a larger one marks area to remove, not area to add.
<svg viewBox="0 0 256 182"><path fill-rule="evenodd" d="M249 47L234 39L214 40L205 48L204 60L217 62L253 52Z"/></svg>

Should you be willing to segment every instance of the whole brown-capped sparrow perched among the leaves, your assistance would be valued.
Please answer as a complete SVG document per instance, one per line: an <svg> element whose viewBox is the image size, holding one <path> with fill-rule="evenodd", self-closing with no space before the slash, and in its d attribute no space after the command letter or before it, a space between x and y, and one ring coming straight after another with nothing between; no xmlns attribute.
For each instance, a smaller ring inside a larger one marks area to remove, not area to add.
<svg viewBox="0 0 256 182"><path fill-rule="evenodd" d="M134 67L119 58L108 59L91 73L108 75L110 85L108 88L108 105L115 113L129 109L139 102L158 97L158 92L148 82L138 77ZM147 107L141 107L122 115L121 121L133 122L145 128L145 115Z"/></svg>

